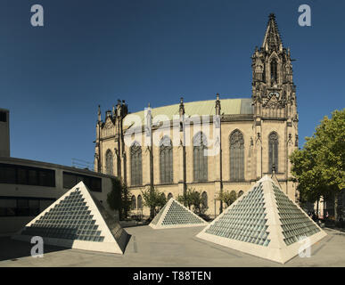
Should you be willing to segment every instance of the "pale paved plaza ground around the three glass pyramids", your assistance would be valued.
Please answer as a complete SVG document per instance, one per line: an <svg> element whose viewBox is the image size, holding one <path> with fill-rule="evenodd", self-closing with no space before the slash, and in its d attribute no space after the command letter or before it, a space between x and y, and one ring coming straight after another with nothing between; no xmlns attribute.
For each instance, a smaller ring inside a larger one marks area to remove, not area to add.
<svg viewBox="0 0 345 285"><path fill-rule="evenodd" d="M311 248L311 256L295 256L285 265L224 248L195 237L202 227L153 230L126 228L131 235L123 256L45 246L42 258L30 256L33 245L0 237L0 267L7 266L345 266L345 233L326 229L327 236Z"/></svg>

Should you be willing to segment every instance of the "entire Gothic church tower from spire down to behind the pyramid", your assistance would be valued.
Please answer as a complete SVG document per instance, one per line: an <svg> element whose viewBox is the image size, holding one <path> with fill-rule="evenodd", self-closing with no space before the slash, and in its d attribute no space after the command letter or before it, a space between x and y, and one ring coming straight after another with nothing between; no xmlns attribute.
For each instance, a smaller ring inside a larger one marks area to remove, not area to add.
<svg viewBox="0 0 345 285"><path fill-rule="evenodd" d="M251 59L256 178L275 173L286 182L288 192L291 177L288 157L298 147L296 86L290 48L283 47L275 14L269 15L263 43L255 48Z"/></svg>

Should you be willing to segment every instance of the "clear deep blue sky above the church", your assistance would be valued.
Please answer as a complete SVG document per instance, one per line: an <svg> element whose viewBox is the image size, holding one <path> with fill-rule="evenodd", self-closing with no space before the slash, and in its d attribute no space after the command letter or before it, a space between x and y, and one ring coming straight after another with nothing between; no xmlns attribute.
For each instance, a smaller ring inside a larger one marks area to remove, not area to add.
<svg viewBox="0 0 345 285"><path fill-rule="evenodd" d="M42 4L45 26L30 25ZM311 27L300 27L300 4ZM130 111L251 97L251 54L275 12L290 47L300 147L345 105L343 1L2 0L0 108L11 111L11 155L71 165L94 160L97 106Z"/></svg>

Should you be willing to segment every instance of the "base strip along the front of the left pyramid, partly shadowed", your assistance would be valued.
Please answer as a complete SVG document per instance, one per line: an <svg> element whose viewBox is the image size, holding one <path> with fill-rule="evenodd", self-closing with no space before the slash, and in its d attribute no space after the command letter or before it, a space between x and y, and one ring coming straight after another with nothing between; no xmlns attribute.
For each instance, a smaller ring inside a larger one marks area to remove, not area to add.
<svg viewBox="0 0 345 285"><path fill-rule="evenodd" d="M16 234L12 236L12 240L21 240L30 242L32 236ZM96 242L86 240L66 240L66 239L54 239L42 237L44 244L72 249L82 249L97 252L107 252L123 255L127 246L127 240L123 240L121 244L115 242Z"/></svg>

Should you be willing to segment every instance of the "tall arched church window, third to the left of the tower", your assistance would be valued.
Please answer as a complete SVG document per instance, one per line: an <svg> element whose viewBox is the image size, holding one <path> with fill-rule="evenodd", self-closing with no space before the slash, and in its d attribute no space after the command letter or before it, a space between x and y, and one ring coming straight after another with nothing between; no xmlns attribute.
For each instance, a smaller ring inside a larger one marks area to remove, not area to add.
<svg viewBox="0 0 345 285"><path fill-rule="evenodd" d="M173 148L168 136L160 140L160 183L173 182Z"/></svg>

